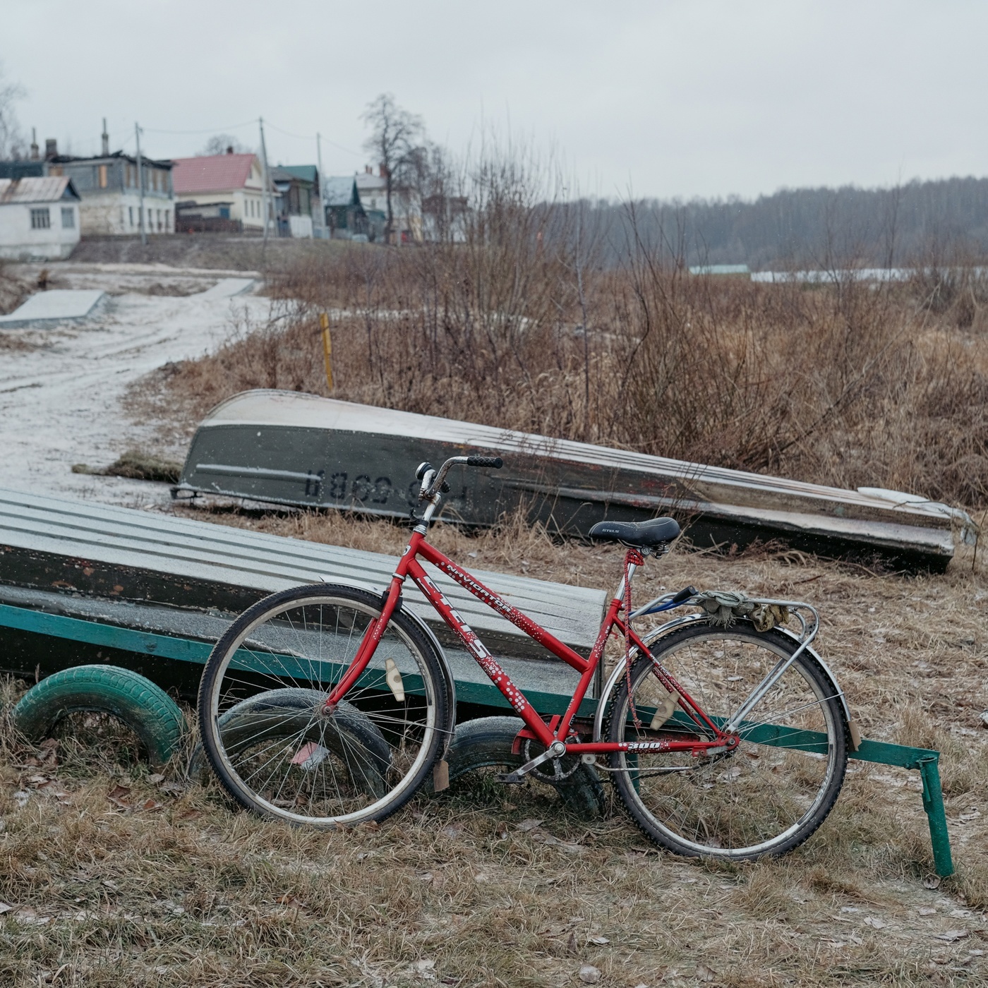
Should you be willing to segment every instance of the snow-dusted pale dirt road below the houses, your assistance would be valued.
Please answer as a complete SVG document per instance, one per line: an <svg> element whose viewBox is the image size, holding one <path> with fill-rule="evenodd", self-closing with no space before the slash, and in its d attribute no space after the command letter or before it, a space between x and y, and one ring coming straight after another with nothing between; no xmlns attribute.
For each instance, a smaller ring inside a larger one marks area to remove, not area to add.
<svg viewBox="0 0 988 988"><path fill-rule="evenodd" d="M214 347L245 310L264 318L268 299L217 296L209 289L233 274L226 272L162 265L48 270L59 288L103 288L112 296L84 323L0 331L0 486L130 507L163 504L166 484L72 473L72 464L105 466L150 445L153 426L132 422L122 407L127 387ZM169 286L176 293L162 294ZM181 458L184 451L171 453Z"/></svg>

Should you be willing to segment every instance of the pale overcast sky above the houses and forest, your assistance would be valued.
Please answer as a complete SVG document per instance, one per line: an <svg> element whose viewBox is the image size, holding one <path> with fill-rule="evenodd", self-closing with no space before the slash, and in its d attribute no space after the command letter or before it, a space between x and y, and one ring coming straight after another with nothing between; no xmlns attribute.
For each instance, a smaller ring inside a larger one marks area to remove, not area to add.
<svg viewBox="0 0 988 988"><path fill-rule="evenodd" d="M314 162L318 130L324 172L347 174L389 91L454 150L510 133L609 197L988 174L983 2L2 6L21 124L75 154L98 151L103 117L113 149L139 121L168 157L221 130L254 146L263 116L273 162Z"/></svg>

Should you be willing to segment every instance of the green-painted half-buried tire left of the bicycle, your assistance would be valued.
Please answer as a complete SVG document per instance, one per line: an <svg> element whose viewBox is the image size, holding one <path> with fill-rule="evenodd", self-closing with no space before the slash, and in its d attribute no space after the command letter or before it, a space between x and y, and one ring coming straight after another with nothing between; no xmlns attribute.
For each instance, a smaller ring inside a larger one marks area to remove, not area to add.
<svg viewBox="0 0 988 988"><path fill-rule="evenodd" d="M120 666L75 666L54 673L21 698L11 720L38 743L66 715L87 711L123 721L158 766L178 750L186 732L185 716L175 700L149 679Z"/></svg>

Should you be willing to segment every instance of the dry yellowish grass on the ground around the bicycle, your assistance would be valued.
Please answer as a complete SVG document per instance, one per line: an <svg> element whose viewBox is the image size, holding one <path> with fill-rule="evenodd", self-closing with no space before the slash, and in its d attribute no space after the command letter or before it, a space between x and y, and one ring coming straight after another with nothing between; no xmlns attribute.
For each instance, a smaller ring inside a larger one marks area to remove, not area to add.
<svg viewBox="0 0 988 988"><path fill-rule="evenodd" d="M373 551L406 536L334 513L207 517ZM517 522L435 536L478 568L593 586L617 576L613 548L558 545ZM494 804L422 798L379 829L289 830L233 811L212 785L164 791L106 750L41 763L5 736L0 898L18 908L0 919L0 982L542 986L582 983L593 964L605 985L984 984L984 570L968 559L936 578L875 577L681 550L639 582L642 595L693 583L812 600L864 734L944 752L956 876L924 886L917 775L863 763L806 845L737 867L658 854L619 808L588 824L528 787ZM532 817L539 828L515 829Z"/></svg>

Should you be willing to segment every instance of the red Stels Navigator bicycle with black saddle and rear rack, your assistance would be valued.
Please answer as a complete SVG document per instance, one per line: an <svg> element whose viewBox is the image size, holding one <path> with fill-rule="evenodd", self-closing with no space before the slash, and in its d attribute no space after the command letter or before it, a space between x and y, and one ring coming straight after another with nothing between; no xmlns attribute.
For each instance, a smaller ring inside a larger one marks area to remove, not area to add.
<svg viewBox="0 0 988 988"><path fill-rule="evenodd" d="M455 464L498 468L501 460L454 456L439 470L422 464L426 507L379 596L340 585L295 587L244 612L217 642L199 711L206 755L226 790L266 816L346 826L395 812L434 767L445 767L455 684L435 635L403 607L411 578L521 718L515 750L526 757L504 782L558 782L594 766L616 783L641 829L681 855L749 860L805 841L840 791L850 719L809 647L816 612L692 587L632 612L636 568L667 551L680 529L669 518L602 522L590 534L624 545L624 571L593 650L580 655L426 540ZM539 715L423 561L580 674L564 713ZM633 618L687 606L700 610L647 633L632 626ZM800 634L782 626L793 616ZM613 634L623 658L594 719L581 719Z"/></svg>

